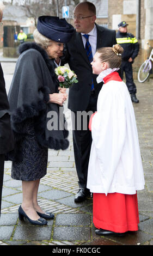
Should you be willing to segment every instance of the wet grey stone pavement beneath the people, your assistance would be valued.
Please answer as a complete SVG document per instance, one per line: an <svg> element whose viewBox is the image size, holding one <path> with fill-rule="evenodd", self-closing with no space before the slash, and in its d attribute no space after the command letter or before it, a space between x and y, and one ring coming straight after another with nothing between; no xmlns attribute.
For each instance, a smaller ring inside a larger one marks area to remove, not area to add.
<svg viewBox="0 0 153 256"><path fill-rule="evenodd" d="M7 92L14 71L14 63L2 63ZM47 174L41 179L39 204L54 213L54 220L39 227L21 222L17 209L22 202L21 181L11 179L11 162L5 162L0 245L153 245L153 83L137 84L138 104L134 104L139 144L145 175L145 190L138 192L139 230L125 236L97 236L92 222L92 199L74 203L78 191L72 145L67 150L48 150ZM65 103L66 118L70 111Z"/></svg>

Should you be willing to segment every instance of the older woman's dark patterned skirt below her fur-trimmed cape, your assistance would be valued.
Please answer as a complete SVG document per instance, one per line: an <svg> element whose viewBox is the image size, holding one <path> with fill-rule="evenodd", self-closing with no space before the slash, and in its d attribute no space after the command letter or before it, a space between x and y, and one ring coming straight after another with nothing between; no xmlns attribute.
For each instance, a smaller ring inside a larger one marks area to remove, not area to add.
<svg viewBox="0 0 153 256"><path fill-rule="evenodd" d="M27 119L25 136L20 142L22 161L13 161L11 178L33 181L41 179L47 172L48 148L42 147L35 136L33 119Z"/></svg>

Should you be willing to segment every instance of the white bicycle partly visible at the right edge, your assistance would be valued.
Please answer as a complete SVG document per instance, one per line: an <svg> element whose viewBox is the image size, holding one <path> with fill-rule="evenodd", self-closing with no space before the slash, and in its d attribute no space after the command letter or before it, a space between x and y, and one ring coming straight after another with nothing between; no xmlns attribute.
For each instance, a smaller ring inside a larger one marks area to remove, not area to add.
<svg viewBox="0 0 153 256"><path fill-rule="evenodd" d="M146 44L149 45L149 42L146 42ZM149 45L149 47L151 47ZM152 63L153 62L153 49L150 53L150 56L148 59L145 60L145 62L140 66L139 71L138 71L138 81L140 83L144 83L150 74L152 74Z"/></svg>

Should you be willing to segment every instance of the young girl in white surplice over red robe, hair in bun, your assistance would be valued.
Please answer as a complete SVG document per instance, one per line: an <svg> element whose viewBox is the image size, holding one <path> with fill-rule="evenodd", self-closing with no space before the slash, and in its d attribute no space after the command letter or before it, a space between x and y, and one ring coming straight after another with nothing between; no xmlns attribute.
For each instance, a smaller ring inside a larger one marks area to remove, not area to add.
<svg viewBox="0 0 153 256"><path fill-rule="evenodd" d="M90 118L91 146L87 187L93 193L93 222L98 235L138 230L137 190L144 188L134 110L118 72L120 45L97 50L93 74L103 81L97 112Z"/></svg>

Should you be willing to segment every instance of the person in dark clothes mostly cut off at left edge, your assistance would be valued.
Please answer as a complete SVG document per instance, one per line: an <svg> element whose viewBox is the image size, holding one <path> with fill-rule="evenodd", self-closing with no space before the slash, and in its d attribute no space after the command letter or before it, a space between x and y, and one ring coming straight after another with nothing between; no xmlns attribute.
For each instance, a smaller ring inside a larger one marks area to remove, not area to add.
<svg viewBox="0 0 153 256"><path fill-rule="evenodd" d="M1 6L0 6L1 7ZM0 25L2 26L2 10L0 9ZM14 137L10 126L9 102L5 90L3 70L0 63L0 215L4 175L5 154L14 148Z"/></svg>

